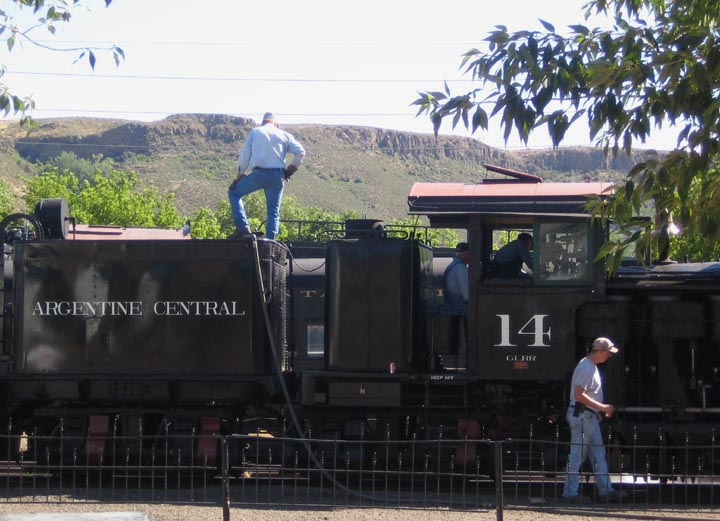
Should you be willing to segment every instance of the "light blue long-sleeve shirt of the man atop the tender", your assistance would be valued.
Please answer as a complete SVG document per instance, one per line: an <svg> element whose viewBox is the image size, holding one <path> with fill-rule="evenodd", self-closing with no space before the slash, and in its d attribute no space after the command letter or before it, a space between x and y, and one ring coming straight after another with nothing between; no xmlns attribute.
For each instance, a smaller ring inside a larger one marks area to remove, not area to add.
<svg viewBox="0 0 720 521"><path fill-rule="evenodd" d="M238 173L253 168L285 168L286 154L292 154L292 164L300 166L305 149L292 134L266 123L248 133L238 156Z"/></svg>

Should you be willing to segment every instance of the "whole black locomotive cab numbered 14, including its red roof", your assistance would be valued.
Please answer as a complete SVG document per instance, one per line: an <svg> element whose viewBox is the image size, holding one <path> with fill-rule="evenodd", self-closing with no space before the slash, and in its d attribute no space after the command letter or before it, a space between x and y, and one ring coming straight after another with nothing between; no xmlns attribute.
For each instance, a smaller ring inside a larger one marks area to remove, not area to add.
<svg viewBox="0 0 720 521"><path fill-rule="evenodd" d="M416 183L410 213L467 230L468 372L488 381L562 382L577 356L575 310L604 298L595 257L605 235L583 207L610 186L517 174L478 185ZM521 234L532 238L531 259L512 273L499 269L504 243L526 247Z"/></svg>

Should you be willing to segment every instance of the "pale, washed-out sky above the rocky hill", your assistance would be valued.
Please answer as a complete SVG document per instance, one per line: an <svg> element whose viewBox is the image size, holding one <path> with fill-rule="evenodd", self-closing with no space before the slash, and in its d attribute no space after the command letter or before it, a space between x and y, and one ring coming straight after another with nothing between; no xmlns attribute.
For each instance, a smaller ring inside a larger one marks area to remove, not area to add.
<svg viewBox="0 0 720 521"><path fill-rule="evenodd" d="M410 104L419 91L453 93L479 86L459 70L460 56L496 25L541 30L539 18L564 28L584 23L584 1L556 0L85 0L45 45L117 44L116 67L97 52L95 71L78 52L24 44L8 53L3 81L32 95L37 119L65 116L153 121L170 114L230 114L280 124L361 125L432 133ZM584 121L567 145L590 145ZM468 135L450 122L441 133ZM499 121L473 136L504 148ZM673 145L658 136L658 148ZM524 145L513 136L507 148ZM544 129L530 148L549 146Z"/></svg>

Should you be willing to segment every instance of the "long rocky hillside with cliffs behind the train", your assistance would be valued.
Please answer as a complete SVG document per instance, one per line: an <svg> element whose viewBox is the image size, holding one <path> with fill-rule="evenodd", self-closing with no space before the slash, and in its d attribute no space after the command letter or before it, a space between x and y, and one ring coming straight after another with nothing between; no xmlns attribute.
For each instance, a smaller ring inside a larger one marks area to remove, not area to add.
<svg viewBox="0 0 720 521"><path fill-rule="evenodd" d="M224 199L237 153L255 122L225 115L180 114L142 123L64 118L39 120L29 135L12 122L0 126L0 167L16 179L61 152L112 158L118 168L176 193L190 213ZM287 125L307 157L286 193L334 211L353 208L373 217L403 217L416 181L476 182L491 163L548 180L618 179L632 166L594 148L510 152L470 138L332 125ZM490 174L494 175L494 174Z"/></svg>

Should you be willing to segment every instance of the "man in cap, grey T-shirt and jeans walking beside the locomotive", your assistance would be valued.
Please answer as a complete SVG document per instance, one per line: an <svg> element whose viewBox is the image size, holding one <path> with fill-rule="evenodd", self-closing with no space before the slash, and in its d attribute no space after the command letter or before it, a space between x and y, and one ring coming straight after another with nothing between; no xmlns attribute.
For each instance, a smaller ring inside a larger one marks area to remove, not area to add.
<svg viewBox="0 0 720 521"><path fill-rule="evenodd" d="M615 407L603 402L602 381L597 366L607 362L617 352L618 348L610 339L596 338L587 356L580 360L573 372L570 382L570 407L566 416L570 425L570 455L563 491L563 499L566 501L582 500L579 495L579 471L588 455L595 472L595 487L599 498L617 500L627 495L623 490L614 490L610 483L600 432L600 415L611 417Z"/></svg>

